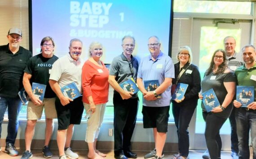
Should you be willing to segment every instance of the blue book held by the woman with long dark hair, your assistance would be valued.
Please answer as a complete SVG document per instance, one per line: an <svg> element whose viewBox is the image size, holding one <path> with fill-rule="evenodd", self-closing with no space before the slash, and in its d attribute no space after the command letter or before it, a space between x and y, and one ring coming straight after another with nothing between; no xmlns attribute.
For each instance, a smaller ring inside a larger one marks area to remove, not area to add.
<svg viewBox="0 0 256 159"><path fill-rule="evenodd" d="M207 112L211 112L214 107L220 106L220 102L213 89L203 92L202 95L203 105Z"/></svg>

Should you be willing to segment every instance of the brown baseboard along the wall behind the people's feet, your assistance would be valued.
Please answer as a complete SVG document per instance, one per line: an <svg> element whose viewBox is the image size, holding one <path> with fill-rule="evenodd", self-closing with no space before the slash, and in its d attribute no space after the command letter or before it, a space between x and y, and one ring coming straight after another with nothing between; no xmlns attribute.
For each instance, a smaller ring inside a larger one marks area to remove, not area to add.
<svg viewBox="0 0 256 159"><path fill-rule="evenodd" d="M5 139L0 139L0 146L5 147ZM25 139L17 139L15 142L17 148L25 149ZM31 149L43 149L44 140L33 140L31 143ZM57 140L50 142L51 149L58 149ZM74 150L88 150L87 142L83 140L71 141L71 147ZM133 151L150 151L154 148L154 142L132 142L131 150ZM98 141L97 149L99 150L114 150L113 141ZM165 143L164 151L166 152L177 152L178 143Z"/></svg>

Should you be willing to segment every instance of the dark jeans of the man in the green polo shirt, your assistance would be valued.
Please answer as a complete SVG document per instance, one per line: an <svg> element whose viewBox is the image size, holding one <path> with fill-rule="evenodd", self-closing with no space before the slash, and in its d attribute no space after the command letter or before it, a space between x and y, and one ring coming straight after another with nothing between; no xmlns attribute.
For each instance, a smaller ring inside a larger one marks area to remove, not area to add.
<svg viewBox="0 0 256 159"><path fill-rule="evenodd" d="M249 159L249 131L251 129L253 159L256 159L256 110L237 108L235 113L239 159Z"/></svg>

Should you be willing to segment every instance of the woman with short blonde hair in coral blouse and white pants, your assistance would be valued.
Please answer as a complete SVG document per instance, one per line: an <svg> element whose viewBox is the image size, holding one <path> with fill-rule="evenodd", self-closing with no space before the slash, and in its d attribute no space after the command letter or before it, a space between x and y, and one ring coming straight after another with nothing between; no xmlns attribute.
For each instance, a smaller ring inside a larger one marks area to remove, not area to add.
<svg viewBox="0 0 256 159"><path fill-rule="evenodd" d="M96 142L108 101L109 71L100 60L103 55L101 43L91 43L89 55L90 58L84 63L82 69L84 108L86 113L90 114L87 122L85 142L88 143L89 159L103 159L103 157L106 157L106 154L96 149Z"/></svg>

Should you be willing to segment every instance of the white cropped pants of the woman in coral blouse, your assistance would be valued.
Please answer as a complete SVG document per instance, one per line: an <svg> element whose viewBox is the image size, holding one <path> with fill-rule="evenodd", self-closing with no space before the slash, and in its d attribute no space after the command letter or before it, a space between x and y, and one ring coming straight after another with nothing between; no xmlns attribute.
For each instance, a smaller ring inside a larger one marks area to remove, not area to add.
<svg viewBox="0 0 256 159"><path fill-rule="evenodd" d="M88 110L90 109L90 105L84 103L84 109L86 112L88 112ZM87 121L85 142L91 143L94 142L95 138L98 138L104 118L105 109L106 103L96 105L96 111L91 114L90 118Z"/></svg>

